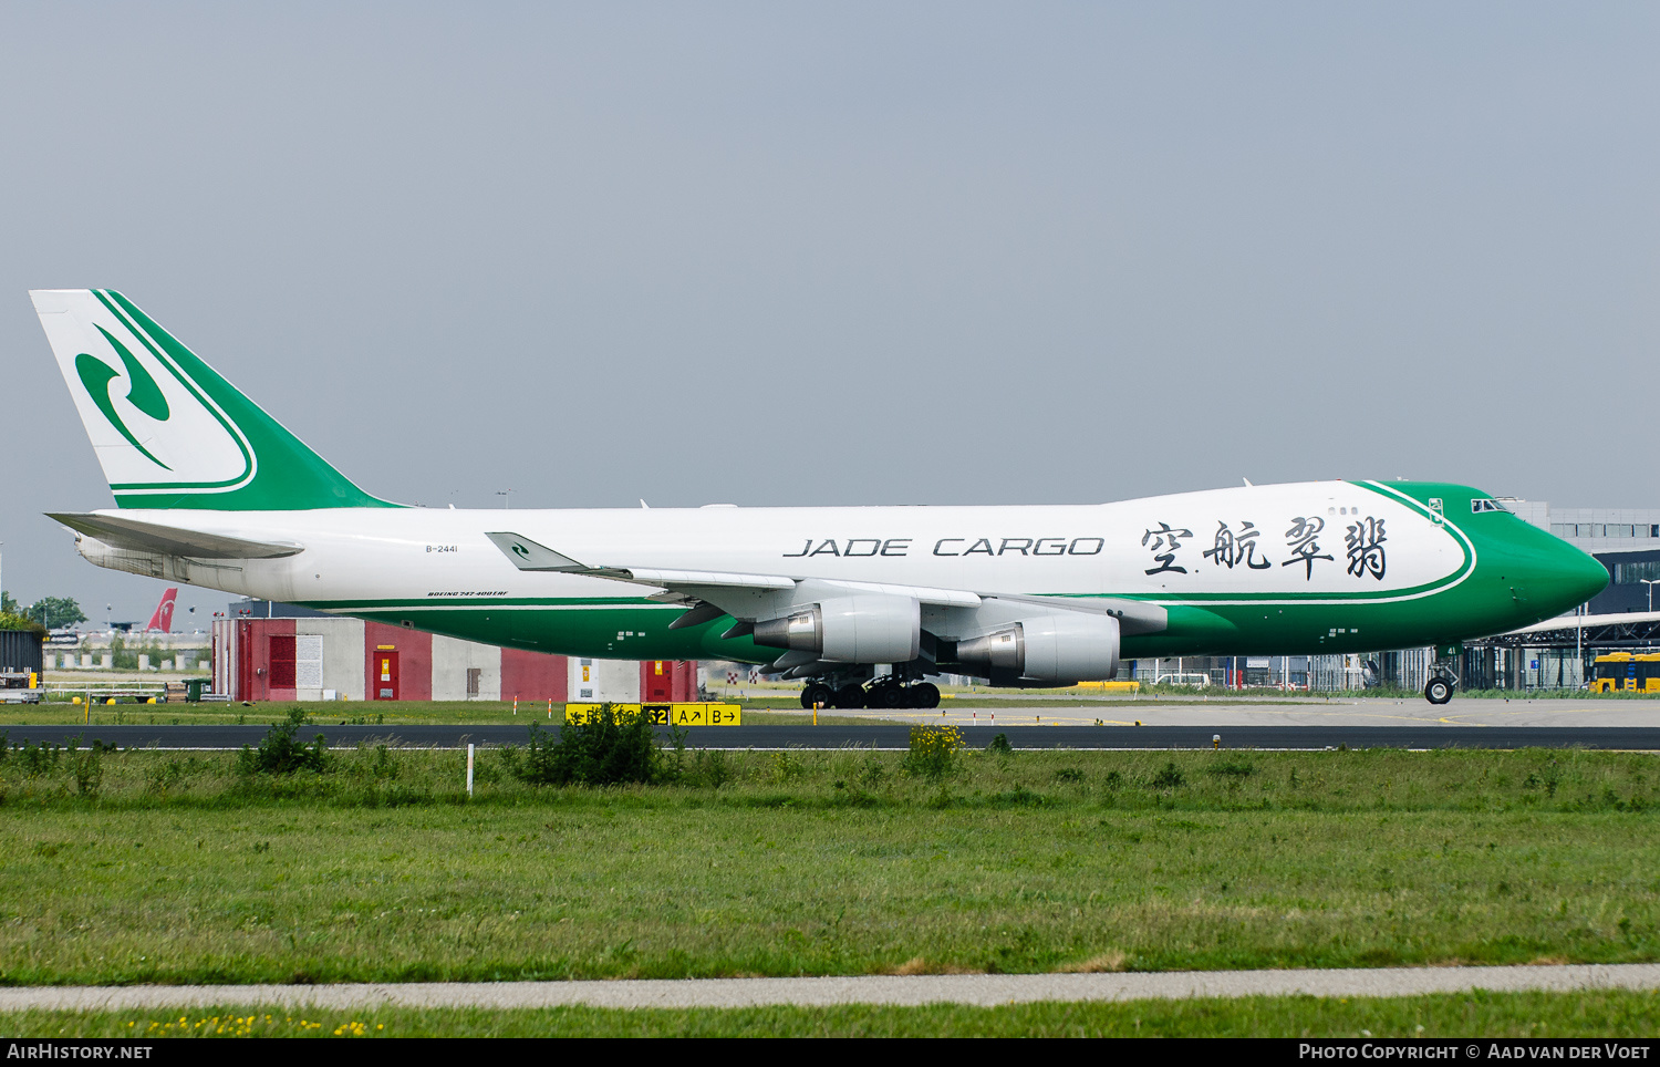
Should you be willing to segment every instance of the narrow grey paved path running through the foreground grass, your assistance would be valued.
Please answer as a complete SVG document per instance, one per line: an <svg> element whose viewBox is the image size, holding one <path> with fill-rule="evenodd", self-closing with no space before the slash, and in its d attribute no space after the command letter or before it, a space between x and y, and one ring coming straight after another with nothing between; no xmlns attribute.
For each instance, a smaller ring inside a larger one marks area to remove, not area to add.
<svg viewBox="0 0 1660 1067"><path fill-rule="evenodd" d="M189 1007L830 1007L837 1004L1024 1004L1190 997L1404 997L1431 992L1660 989L1660 964L1378 967L1353 971L1165 971L1154 974L867 974L598 982L407 982L340 986L33 986L0 989L0 1012Z"/></svg>

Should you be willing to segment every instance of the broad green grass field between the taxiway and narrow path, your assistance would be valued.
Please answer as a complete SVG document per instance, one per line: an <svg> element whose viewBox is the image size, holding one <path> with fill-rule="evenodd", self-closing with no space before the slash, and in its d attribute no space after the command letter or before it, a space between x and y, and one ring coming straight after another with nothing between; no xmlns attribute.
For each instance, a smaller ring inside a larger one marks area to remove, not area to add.
<svg viewBox="0 0 1660 1067"><path fill-rule="evenodd" d="M1640 753L13 750L0 982L284 982L1660 959Z"/></svg>

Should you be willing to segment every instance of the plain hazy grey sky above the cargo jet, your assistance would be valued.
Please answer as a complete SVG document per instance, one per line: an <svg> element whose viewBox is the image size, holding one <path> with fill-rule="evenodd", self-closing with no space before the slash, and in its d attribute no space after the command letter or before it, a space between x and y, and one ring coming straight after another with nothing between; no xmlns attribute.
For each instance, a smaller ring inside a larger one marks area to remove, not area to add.
<svg viewBox="0 0 1660 1067"><path fill-rule="evenodd" d="M40 516L110 493L30 287L123 290L364 488L438 506L1242 476L1657 506L1657 23L0 7L5 586L100 621L161 587Z"/></svg>

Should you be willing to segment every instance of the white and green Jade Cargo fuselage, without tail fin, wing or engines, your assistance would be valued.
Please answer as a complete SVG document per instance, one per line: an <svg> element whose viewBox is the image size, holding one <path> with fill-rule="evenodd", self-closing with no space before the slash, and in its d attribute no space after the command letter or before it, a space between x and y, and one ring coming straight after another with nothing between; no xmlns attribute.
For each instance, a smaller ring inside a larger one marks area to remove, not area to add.
<svg viewBox="0 0 1660 1067"><path fill-rule="evenodd" d="M226 592L569 655L762 664L779 650L722 639L732 619L671 631L686 606L651 599L661 591L521 571L485 534L513 531L591 566L1164 607L1164 629L1125 631L1125 657L1323 654L1502 632L1607 581L1564 541L1472 504L1487 499L1438 483L1316 481L1086 506L108 514L304 546L234 568L171 558L163 572Z"/></svg>

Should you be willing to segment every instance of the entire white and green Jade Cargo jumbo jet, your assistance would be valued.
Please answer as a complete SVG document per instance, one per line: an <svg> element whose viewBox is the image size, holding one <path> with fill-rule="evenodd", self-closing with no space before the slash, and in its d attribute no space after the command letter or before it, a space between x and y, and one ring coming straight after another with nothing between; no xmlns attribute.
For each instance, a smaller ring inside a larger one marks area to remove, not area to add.
<svg viewBox="0 0 1660 1067"><path fill-rule="evenodd" d="M1120 657L1451 655L1607 584L1486 493L1421 481L1028 508L408 508L121 294L32 295L115 495L51 516L95 564L520 649L765 664L808 679L807 705L933 707L921 679L941 670L1064 685Z"/></svg>

